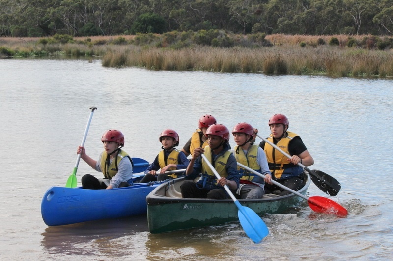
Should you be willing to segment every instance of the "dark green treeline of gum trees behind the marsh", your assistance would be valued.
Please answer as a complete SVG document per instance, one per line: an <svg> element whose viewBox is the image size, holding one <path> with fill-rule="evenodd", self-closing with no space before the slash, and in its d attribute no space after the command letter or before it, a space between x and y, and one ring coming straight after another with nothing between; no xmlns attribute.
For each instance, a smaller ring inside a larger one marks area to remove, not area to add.
<svg viewBox="0 0 393 261"><path fill-rule="evenodd" d="M393 0L0 0L0 36L393 34Z"/></svg>

